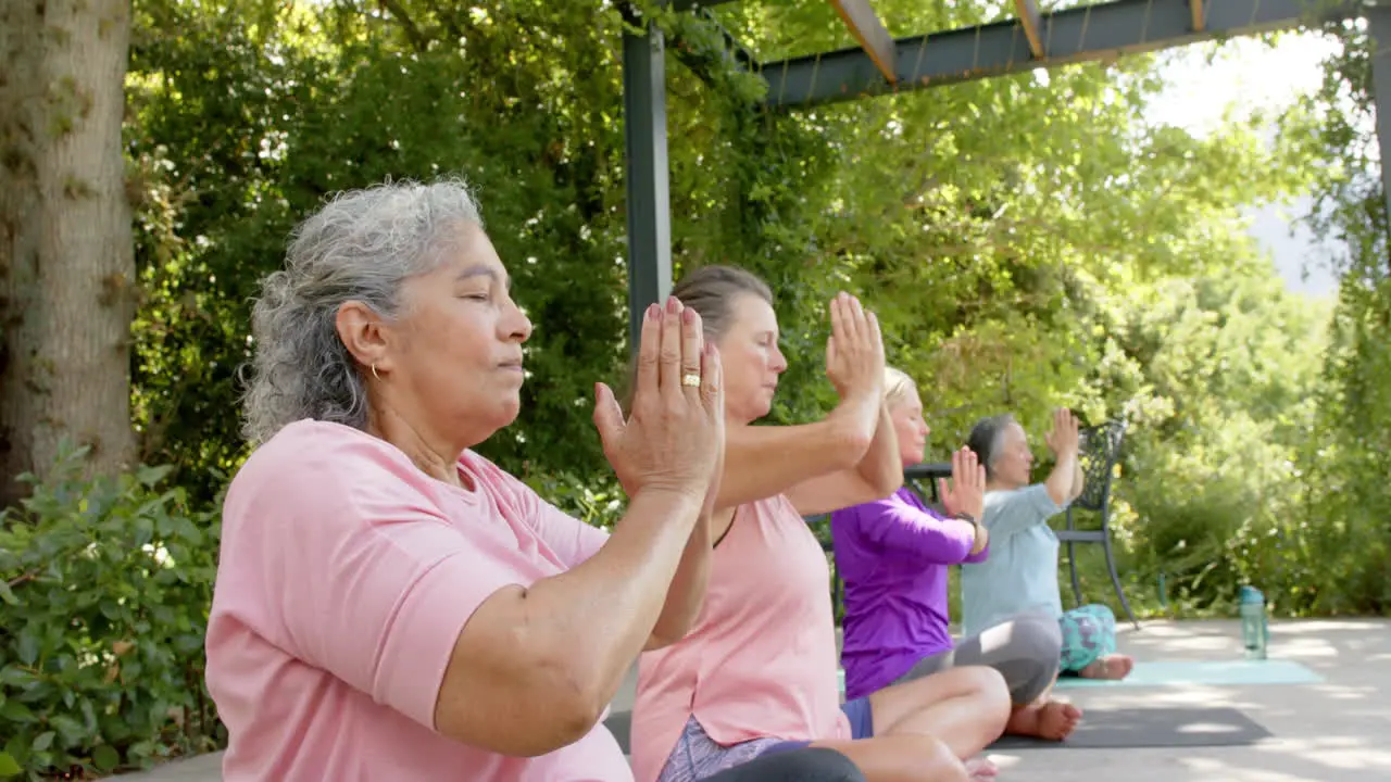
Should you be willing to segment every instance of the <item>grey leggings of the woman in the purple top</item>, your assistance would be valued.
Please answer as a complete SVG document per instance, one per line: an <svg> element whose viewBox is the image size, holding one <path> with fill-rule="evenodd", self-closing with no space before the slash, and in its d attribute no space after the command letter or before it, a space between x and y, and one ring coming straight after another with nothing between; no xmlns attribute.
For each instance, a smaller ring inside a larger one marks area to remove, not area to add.
<svg viewBox="0 0 1391 782"><path fill-rule="evenodd" d="M1014 705L1028 705L1047 692L1057 678L1061 648L1063 632L1057 619L1046 614L1020 614L979 635L961 639L956 648L924 657L894 685L957 665L989 665L1004 676Z"/></svg>

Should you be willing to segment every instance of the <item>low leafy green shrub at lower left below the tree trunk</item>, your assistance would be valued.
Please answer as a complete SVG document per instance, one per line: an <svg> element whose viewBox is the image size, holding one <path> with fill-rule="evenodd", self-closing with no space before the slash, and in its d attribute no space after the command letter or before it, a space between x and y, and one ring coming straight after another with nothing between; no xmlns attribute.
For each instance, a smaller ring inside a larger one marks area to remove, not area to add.
<svg viewBox="0 0 1391 782"><path fill-rule="evenodd" d="M204 751L218 516L161 490L167 468L83 479L67 449L0 513L0 775L77 778Z"/></svg>

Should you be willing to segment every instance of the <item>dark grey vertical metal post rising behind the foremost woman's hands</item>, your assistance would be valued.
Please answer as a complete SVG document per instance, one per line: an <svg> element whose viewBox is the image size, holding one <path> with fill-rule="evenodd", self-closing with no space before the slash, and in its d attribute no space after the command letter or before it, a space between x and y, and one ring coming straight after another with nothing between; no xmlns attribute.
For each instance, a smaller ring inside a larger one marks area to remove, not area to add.
<svg viewBox="0 0 1391 782"><path fill-rule="evenodd" d="M623 33L623 138L627 146L629 351L643 310L672 291L672 217L666 160L666 60L661 31Z"/></svg>

